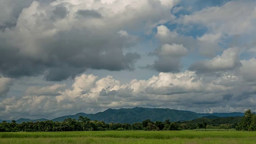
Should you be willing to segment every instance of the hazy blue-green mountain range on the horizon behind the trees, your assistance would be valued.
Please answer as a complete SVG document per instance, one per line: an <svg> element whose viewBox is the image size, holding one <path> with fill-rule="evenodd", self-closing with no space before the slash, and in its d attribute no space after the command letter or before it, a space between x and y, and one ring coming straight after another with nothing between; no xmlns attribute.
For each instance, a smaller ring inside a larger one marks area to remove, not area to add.
<svg viewBox="0 0 256 144"><path fill-rule="evenodd" d="M186 121L186 120L194 120L201 117L208 118L216 118L216 117L234 117L234 116L244 116L242 112L232 112L232 113L196 113L185 110L173 110L169 108L120 108L116 109L108 109L104 112L98 112L96 114L85 114L78 113L75 115L61 116L58 118L52 119L52 121L62 122L66 118L72 118L78 120L79 116L86 116L90 118L90 120L99 120L104 121L105 123L134 123L134 122L142 122L146 119L150 119L154 121L164 121L166 119L170 119L171 122L177 121ZM41 118L36 120L24 119L20 118L16 120L17 123L29 122L29 121L46 121L48 119ZM0 120L2 122L3 120ZM6 120L6 122L11 122L11 120Z"/></svg>

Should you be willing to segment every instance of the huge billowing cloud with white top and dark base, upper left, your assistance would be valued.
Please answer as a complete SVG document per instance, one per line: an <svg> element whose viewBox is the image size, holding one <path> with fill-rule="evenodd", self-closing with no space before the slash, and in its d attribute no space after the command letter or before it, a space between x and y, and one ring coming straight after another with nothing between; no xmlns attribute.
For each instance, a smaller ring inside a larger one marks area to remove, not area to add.
<svg viewBox="0 0 256 144"><path fill-rule="evenodd" d="M124 49L140 39L128 31L145 33L174 19L170 9L178 2L30 2L15 26L0 32L0 73L13 78L44 74L45 80L60 81L86 69L134 70L140 54Z"/></svg>

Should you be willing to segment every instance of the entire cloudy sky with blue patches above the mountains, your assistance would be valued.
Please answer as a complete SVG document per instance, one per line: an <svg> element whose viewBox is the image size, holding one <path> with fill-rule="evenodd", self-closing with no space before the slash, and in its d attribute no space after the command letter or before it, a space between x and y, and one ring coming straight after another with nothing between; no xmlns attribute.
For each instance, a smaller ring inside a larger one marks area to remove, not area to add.
<svg viewBox="0 0 256 144"><path fill-rule="evenodd" d="M256 111L255 0L0 0L0 119Z"/></svg>

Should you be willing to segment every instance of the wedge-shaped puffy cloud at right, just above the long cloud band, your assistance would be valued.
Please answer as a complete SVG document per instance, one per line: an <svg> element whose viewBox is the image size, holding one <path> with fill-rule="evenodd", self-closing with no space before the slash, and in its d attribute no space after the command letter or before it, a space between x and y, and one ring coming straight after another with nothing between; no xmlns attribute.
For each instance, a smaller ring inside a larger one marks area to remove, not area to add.
<svg viewBox="0 0 256 144"><path fill-rule="evenodd" d="M195 62L190 66L189 70L198 73L223 72L226 70L234 70L234 68L238 68L241 65L238 48L228 48L223 51L222 55L218 55L212 60Z"/></svg>

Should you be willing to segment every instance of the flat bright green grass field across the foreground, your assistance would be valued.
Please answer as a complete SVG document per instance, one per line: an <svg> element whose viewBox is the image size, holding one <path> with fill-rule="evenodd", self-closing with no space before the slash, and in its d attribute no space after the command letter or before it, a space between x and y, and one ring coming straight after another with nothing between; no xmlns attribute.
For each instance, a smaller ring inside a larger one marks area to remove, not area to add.
<svg viewBox="0 0 256 144"><path fill-rule="evenodd" d="M256 144L245 131L2 132L0 144Z"/></svg>

